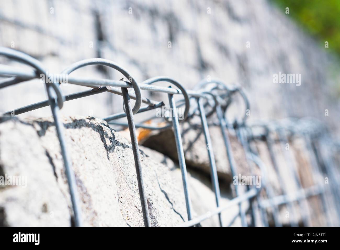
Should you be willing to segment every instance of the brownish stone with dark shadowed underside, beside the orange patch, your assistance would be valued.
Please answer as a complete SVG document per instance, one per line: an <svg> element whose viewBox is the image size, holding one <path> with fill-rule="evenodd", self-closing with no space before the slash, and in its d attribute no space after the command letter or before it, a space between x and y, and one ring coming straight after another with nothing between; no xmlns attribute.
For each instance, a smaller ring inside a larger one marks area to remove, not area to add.
<svg viewBox="0 0 340 250"><path fill-rule="evenodd" d="M181 132L186 164L190 167L210 173L207 144L201 124L184 122L181 124ZM210 147L212 147L212 150L214 151L218 175L226 182L231 182L233 177L229 167L221 129L219 126L209 126L209 132L212 144ZM231 141L237 171L238 173L247 175L249 173L249 167L247 165L242 145L239 143L235 135L229 134L229 139ZM143 142L143 145L162 152L163 154L170 156L172 159L178 160L172 129L151 135Z"/></svg>

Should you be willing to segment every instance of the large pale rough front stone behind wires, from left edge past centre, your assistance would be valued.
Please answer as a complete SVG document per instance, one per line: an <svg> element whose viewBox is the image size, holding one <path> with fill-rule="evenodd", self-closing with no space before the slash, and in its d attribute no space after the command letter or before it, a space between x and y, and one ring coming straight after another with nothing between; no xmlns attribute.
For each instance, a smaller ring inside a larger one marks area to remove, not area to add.
<svg viewBox="0 0 340 250"><path fill-rule="evenodd" d="M74 116L62 121L84 226L143 226L131 143L103 120ZM152 226L186 221L180 169L149 148L141 146L140 155ZM0 123L0 170L2 175L27 176L26 188L0 188L2 225L71 225L67 179L52 118ZM191 171L189 183L194 215L214 209L209 177ZM229 194L221 187L221 204L229 201ZM237 207L222 213L225 223L236 213ZM202 225L217 226L215 217Z"/></svg>

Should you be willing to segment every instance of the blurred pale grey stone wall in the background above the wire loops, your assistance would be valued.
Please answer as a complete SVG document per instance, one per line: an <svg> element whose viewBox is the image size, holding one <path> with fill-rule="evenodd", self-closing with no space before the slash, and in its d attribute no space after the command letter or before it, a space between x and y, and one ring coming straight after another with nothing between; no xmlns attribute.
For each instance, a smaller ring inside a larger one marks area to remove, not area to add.
<svg viewBox="0 0 340 250"><path fill-rule="evenodd" d="M14 45L49 72L102 57L128 69L138 82L166 75L193 88L210 76L245 88L252 120L314 116L337 130L337 60L266 0L1 0L0 6L0 45ZM19 65L3 57L0 62ZM273 83L279 71L301 73L301 86ZM72 74L121 78L96 66ZM62 86L65 94L84 89ZM167 100L158 93L142 94ZM45 99L44 85L32 80L1 89L0 111ZM103 93L68 101L62 113L103 117L121 110L120 96ZM50 115L45 107L20 116Z"/></svg>

